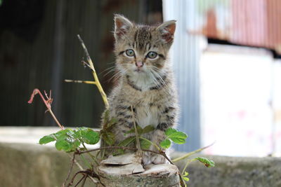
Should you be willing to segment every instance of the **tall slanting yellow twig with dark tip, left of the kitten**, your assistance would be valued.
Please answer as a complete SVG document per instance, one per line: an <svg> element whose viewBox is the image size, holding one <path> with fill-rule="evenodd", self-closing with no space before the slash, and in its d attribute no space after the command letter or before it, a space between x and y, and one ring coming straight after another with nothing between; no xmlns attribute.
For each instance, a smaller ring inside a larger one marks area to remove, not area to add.
<svg viewBox="0 0 281 187"><path fill-rule="evenodd" d="M88 53L88 50L87 50L87 48L86 48L86 46L84 44L84 41L81 39L79 34L77 35L77 37L78 37L78 39L79 39L79 41L81 43L81 46L84 49L84 52L86 54L86 58L87 58L87 61L89 63L89 67L92 70L93 79L94 79L94 81L96 83L96 86L98 87L98 90L100 91L101 97L103 97L103 102L105 103L105 108L108 109L109 104L108 104L108 101L107 101L107 96L105 95L105 92L103 91L103 87L100 85L100 81L98 80L98 75L96 74L95 67L93 67L93 62L92 62L91 57L90 57L90 55Z"/></svg>

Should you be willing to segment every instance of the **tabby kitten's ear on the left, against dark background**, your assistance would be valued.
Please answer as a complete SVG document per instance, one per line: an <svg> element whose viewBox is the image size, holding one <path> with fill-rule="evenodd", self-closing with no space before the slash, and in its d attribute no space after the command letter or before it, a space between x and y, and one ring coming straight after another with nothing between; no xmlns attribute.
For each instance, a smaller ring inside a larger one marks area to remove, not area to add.
<svg viewBox="0 0 281 187"><path fill-rule="evenodd" d="M129 32L129 29L133 27L133 23L130 22L127 18L125 18L123 15L115 14L115 39L120 39L122 36L124 36L127 32Z"/></svg>

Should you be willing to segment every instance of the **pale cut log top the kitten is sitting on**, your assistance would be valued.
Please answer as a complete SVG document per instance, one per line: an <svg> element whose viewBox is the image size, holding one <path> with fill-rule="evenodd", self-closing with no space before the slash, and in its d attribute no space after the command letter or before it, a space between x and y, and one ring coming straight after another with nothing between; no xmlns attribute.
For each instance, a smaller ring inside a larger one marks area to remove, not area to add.
<svg viewBox="0 0 281 187"><path fill-rule="evenodd" d="M133 153L110 156L98 167L104 186L179 186L180 178L175 165L141 165L141 158Z"/></svg>

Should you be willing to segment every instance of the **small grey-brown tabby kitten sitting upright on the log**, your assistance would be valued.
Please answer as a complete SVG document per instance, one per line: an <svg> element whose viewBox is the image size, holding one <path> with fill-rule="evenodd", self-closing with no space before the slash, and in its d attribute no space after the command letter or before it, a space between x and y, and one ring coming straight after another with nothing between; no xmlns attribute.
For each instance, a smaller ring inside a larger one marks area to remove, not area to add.
<svg viewBox="0 0 281 187"><path fill-rule="evenodd" d="M117 120L112 129L115 146L132 136L125 132L133 128L133 116L142 128L155 127L143 136L157 145L165 138L164 131L176 124L177 93L171 64L166 60L175 29L174 20L155 27L136 25L122 15L115 15L116 68L120 78L109 97L110 118ZM150 150L155 147L150 146ZM143 153L144 165L165 162L162 155Z"/></svg>

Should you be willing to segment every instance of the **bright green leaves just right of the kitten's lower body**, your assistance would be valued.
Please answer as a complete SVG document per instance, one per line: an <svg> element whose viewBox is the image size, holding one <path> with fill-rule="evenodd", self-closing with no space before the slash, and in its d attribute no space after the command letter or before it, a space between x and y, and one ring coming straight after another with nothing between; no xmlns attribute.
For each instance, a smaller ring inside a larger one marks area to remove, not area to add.
<svg viewBox="0 0 281 187"><path fill-rule="evenodd" d="M171 146L171 141L174 141L175 144L185 144L185 139L188 137L184 132L173 128L167 129L165 134L166 139L160 142L162 148L169 148Z"/></svg>

